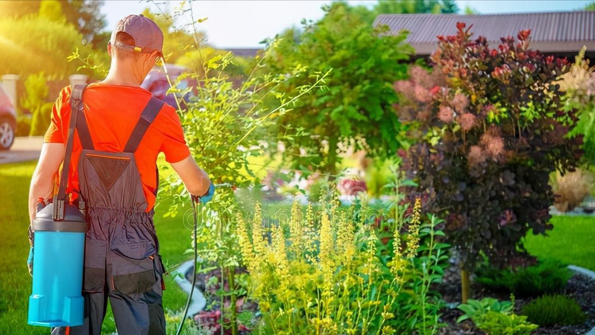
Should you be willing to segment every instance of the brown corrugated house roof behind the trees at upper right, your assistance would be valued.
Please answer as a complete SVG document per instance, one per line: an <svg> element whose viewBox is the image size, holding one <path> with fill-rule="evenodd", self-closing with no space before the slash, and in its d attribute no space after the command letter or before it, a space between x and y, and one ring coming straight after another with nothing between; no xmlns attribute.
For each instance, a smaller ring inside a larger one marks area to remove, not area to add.
<svg viewBox="0 0 595 335"><path fill-rule="evenodd" d="M538 2L535 2L538 5ZM539 8L536 8L539 9ZM429 55L437 48L438 35L455 35L456 23L473 24L475 37L486 36L490 44L501 37L515 36L531 29L531 48L542 52L578 52L583 45L595 50L595 11L519 13L487 15L381 14L374 26L386 24L390 34L409 30L407 41L418 55ZM495 45L494 45L495 46Z"/></svg>

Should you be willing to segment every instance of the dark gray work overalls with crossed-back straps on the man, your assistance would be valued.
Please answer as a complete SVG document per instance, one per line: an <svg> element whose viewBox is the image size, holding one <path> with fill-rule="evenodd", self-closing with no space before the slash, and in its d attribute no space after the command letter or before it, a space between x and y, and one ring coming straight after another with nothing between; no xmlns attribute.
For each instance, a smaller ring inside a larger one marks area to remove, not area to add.
<svg viewBox="0 0 595 335"><path fill-rule="evenodd" d="M100 335L108 297L119 335L165 334L164 266L153 210L146 212L134 161L134 151L163 104L151 97L122 153L94 150L83 108L79 110L80 195L90 226L84 250L84 324L54 328L52 335Z"/></svg>

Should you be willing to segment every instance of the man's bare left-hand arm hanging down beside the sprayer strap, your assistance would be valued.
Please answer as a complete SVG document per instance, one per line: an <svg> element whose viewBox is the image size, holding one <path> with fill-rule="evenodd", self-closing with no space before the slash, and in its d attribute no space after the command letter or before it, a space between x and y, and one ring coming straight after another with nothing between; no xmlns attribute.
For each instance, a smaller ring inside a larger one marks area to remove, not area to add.
<svg viewBox="0 0 595 335"><path fill-rule="evenodd" d="M32 224L37 213L37 199L48 198L54 191L54 177L64 160L64 150L62 143L44 143L41 148L29 187L29 219Z"/></svg>

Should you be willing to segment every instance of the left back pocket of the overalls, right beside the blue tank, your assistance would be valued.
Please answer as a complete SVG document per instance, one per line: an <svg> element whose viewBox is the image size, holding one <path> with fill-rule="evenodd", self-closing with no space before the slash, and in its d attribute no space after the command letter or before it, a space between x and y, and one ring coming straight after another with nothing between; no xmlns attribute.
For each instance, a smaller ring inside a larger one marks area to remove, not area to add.
<svg viewBox="0 0 595 335"><path fill-rule="evenodd" d="M107 241L87 239L84 249L83 292L102 292L105 285Z"/></svg>

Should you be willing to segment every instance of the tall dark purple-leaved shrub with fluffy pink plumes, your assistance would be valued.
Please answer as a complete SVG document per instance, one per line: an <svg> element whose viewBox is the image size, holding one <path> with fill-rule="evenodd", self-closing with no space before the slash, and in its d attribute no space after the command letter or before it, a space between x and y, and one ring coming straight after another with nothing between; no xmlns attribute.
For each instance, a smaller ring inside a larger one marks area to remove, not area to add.
<svg viewBox="0 0 595 335"><path fill-rule="evenodd" d="M573 169L581 156L581 138L566 136L576 113L562 109L555 82L569 64L529 49L528 30L490 48L464 23L457 29L439 36L431 75L414 68L395 85L408 97L398 111L418 141L402 152L404 168L427 195L424 206L446 218L464 268L482 253L519 265L527 231L552 229L549 173Z"/></svg>

